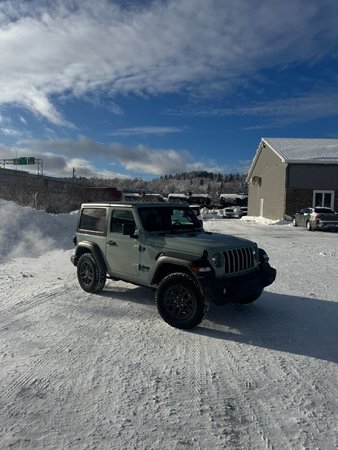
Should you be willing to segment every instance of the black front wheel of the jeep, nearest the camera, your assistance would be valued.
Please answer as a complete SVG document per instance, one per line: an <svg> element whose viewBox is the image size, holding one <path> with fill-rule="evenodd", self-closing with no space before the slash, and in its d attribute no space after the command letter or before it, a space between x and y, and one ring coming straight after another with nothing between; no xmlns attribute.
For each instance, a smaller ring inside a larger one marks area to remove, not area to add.
<svg viewBox="0 0 338 450"><path fill-rule="evenodd" d="M162 319L180 329L199 325L208 311L208 302L197 282L185 273L172 273L163 278L157 287L155 301Z"/></svg>

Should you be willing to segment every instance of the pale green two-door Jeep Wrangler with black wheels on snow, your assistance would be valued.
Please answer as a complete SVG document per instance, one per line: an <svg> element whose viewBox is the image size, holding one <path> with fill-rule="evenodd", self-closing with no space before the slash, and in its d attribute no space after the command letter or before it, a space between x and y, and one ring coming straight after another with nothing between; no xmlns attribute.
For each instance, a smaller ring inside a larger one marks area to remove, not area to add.
<svg viewBox="0 0 338 450"><path fill-rule="evenodd" d="M257 300L276 277L256 243L205 231L182 203L84 203L74 244L82 289L100 292L107 278L148 286L163 320L182 329L201 323L209 302Z"/></svg>

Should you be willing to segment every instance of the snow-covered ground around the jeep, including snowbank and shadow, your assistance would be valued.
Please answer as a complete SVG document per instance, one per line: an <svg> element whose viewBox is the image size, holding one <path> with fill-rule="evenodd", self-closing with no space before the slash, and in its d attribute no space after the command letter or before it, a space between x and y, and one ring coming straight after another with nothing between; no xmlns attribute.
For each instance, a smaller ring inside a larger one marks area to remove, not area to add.
<svg viewBox="0 0 338 450"><path fill-rule="evenodd" d="M146 288L82 291L75 222L0 202L1 449L338 448L338 233L206 220L277 280L187 332Z"/></svg>

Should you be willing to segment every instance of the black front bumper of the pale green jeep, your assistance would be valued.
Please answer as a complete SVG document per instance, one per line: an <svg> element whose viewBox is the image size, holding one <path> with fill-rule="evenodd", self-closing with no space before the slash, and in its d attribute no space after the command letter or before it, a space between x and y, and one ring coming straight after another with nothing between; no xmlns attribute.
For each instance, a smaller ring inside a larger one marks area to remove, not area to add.
<svg viewBox="0 0 338 450"><path fill-rule="evenodd" d="M200 277L198 282L204 296L216 305L224 305L262 291L276 279L277 270L268 262L259 270L238 277L215 279Z"/></svg>

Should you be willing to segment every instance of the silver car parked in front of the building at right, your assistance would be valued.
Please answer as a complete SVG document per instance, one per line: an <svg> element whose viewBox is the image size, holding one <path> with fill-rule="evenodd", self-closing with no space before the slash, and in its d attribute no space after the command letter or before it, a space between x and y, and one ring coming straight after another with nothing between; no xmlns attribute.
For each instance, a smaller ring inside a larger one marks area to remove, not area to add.
<svg viewBox="0 0 338 450"><path fill-rule="evenodd" d="M306 227L307 230L338 230L338 213L331 208L303 208L292 219L294 227Z"/></svg>

